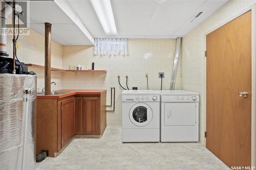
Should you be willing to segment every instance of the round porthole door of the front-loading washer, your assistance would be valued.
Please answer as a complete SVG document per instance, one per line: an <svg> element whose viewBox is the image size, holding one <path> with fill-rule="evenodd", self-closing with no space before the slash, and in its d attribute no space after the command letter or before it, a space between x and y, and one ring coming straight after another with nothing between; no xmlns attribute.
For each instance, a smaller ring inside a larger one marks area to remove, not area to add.
<svg viewBox="0 0 256 170"><path fill-rule="evenodd" d="M145 103L136 103L130 110L130 119L136 126L146 126L153 118L150 106Z"/></svg>

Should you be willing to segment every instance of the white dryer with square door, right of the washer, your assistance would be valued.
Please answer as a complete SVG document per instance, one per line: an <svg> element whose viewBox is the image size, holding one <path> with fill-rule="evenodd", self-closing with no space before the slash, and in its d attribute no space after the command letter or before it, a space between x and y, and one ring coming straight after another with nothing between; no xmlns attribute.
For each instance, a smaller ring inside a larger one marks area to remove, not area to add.
<svg viewBox="0 0 256 170"><path fill-rule="evenodd" d="M199 94L184 90L161 92L161 142L197 142Z"/></svg>

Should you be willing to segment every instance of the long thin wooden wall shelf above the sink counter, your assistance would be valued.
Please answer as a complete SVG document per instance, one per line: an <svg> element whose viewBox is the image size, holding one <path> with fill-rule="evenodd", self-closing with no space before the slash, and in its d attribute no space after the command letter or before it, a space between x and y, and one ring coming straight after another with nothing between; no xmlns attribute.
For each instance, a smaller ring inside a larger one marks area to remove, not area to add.
<svg viewBox="0 0 256 170"><path fill-rule="evenodd" d="M41 68L44 69L45 66L43 65L37 65L37 64L25 64L28 67L35 67L35 68ZM51 68L51 71L58 71L58 72L106 72L106 70L103 69L82 69L82 70L76 70L76 69L61 69L61 68Z"/></svg>

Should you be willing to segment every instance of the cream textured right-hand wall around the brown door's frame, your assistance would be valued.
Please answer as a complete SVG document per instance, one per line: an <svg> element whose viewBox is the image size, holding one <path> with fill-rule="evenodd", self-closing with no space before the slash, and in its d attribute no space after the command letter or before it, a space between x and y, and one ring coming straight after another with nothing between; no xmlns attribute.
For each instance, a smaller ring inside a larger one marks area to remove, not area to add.
<svg viewBox="0 0 256 170"><path fill-rule="evenodd" d="M255 1L229 1L220 10L207 18L182 40L182 89L196 91L200 98L200 141L205 144L205 35L230 17L251 6Z"/></svg>

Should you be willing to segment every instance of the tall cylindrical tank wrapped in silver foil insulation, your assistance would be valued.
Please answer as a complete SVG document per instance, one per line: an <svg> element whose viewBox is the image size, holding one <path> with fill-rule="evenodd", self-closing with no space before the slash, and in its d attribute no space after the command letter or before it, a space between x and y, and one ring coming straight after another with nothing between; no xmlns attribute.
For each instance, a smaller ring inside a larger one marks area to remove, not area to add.
<svg viewBox="0 0 256 170"><path fill-rule="evenodd" d="M0 169L35 169L36 76L0 74Z"/></svg>

